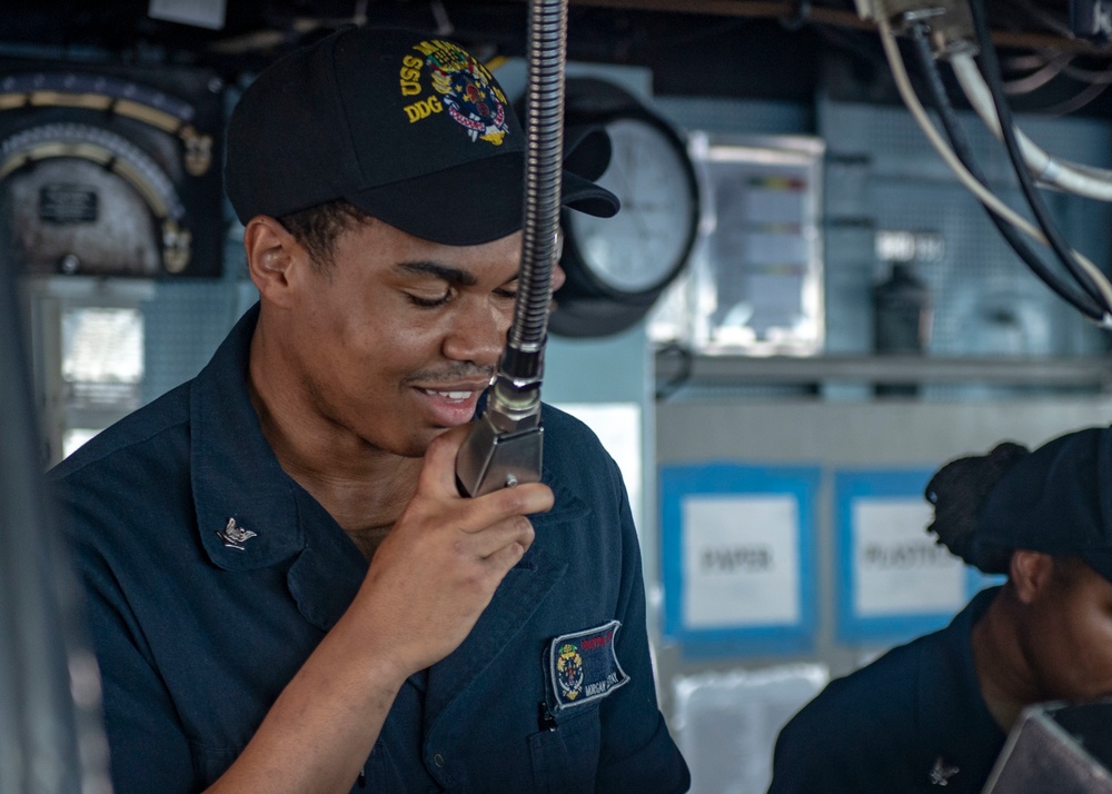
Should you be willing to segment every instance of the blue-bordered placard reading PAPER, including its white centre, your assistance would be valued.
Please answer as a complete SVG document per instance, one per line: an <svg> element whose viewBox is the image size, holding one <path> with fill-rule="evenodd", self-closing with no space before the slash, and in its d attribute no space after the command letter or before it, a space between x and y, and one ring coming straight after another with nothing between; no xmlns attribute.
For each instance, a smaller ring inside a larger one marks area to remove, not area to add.
<svg viewBox="0 0 1112 794"><path fill-rule="evenodd" d="M818 480L817 467L662 467L664 634L686 655L811 649Z"/></svg>

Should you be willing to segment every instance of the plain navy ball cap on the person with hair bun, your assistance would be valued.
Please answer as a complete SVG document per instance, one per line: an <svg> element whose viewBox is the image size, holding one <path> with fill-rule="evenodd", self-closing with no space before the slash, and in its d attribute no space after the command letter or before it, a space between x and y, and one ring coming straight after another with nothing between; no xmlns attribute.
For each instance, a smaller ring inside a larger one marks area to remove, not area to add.
<svg viewBox="0 0 1112 794"><path fill-rule="evenodd" d="M1025 455L989 494L976 543L1084 559L1112 580L1112 428Z"/></svg>

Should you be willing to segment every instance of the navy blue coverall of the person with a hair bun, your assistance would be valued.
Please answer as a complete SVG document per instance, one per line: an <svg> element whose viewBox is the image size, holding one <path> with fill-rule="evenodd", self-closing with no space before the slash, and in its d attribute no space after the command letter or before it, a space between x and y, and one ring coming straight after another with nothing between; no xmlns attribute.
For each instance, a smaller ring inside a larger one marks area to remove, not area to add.
<svg viewBox="0 0 1112 794"><path fill-rule="evenodd" d="M973 624L999 589L831 682L781 731L768 794L979 794L1005 736L981 695Z"/></svg>

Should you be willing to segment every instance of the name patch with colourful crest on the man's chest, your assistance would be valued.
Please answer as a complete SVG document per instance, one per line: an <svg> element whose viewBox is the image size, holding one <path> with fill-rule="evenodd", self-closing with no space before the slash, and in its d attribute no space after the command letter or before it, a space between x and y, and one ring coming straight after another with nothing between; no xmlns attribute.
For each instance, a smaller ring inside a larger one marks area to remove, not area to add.
<svg viewBox="0 0 1112 794"><path fill-rule="evenodd" d="M548 647L548 672L557 708L590 703L629 681L614 649L620 627L620 621L610 621L553 639Z"/></svg>

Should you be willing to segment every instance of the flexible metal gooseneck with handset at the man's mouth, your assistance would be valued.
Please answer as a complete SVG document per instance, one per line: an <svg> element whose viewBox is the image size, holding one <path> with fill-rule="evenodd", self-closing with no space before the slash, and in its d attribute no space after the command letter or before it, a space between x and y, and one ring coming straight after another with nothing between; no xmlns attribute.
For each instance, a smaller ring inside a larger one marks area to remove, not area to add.
<svg viewBox="0 0 1112 794"><path fill-rule="evenodd" d="M459 489L480 496L540 479L544 370L564 173L567 0L529 3L525 201L514 321L487 407L456 458Z"/></svg>

